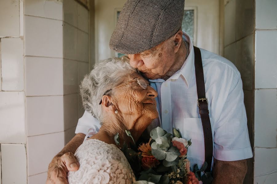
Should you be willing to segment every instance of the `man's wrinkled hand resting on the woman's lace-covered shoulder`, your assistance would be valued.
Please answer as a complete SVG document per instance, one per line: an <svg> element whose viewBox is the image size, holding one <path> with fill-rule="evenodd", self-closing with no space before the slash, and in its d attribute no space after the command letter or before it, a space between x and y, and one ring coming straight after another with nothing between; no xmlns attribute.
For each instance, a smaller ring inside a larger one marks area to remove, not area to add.
<svg viewBox="0 0 277 184"><path fill-rule="evenodd" d="M79 163L73 153L56 155L49 164L46 184L68 184L67 173L78 169Z"/></svg>

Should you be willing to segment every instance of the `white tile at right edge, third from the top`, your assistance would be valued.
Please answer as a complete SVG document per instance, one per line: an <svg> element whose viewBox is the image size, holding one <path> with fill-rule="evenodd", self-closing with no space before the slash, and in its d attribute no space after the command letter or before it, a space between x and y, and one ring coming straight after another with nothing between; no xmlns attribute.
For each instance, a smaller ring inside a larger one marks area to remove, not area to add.
<svg viewBox="0 0 277 184"><path fill-rule="evenodd" d="M276 112L277 89L255 90L255 146L276 147Z"/></svg>

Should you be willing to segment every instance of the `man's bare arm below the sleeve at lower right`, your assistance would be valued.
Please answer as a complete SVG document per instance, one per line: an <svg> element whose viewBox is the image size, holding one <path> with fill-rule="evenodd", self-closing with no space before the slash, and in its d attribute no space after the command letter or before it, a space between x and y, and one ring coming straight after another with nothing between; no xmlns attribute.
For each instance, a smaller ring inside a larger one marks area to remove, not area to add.
<svg viewBox="0 0 277 184"><path fill-rule="evenodd" d="M237 161L221 161L215 159L213 184L240 184L247 172L246 159Z"/></svg>

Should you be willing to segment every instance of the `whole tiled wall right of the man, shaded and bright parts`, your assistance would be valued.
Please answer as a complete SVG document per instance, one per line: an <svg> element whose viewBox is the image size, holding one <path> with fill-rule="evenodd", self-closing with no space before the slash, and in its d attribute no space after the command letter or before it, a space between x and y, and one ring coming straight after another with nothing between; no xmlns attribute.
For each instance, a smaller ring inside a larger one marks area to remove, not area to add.
<svg viewBox="0 0 277 184"><path fill-rule="evenodd" d="M254 163L245 183L275 183L277 178L277 1L225 2L224 56L241 73Z"/></svg>

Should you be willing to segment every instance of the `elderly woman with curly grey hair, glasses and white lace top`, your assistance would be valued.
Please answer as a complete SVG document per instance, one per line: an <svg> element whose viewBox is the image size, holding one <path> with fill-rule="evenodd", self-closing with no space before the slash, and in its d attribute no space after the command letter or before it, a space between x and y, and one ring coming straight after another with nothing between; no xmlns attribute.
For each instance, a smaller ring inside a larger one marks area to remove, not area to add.
<svg viewBox="0 0 277 184"><path fill-rule="evenodd" d="M106 59L94 66L80 85L83 106L100 120L99 132L75 152L78 171L68 173L69 183L132 183L132 169L114 142L114 136L137 140L158 117L157 92L132 68L126 57ZM99 103L100 102L100 103Z"/></svg>

